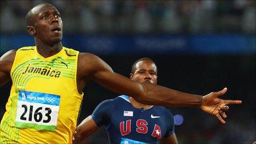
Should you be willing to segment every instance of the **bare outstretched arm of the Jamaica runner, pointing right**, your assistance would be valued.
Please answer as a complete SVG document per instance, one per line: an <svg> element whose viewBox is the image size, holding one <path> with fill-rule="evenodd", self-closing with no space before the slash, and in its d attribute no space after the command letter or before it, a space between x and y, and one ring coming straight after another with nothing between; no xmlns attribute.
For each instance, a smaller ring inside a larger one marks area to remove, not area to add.
<svg viewBox="0 0 256 144"><path fill-rule="evenodd" d="M111 67L102 59L88 53L79 54L78 68L80 68L78 79L84 79L83 82L79 82L80 84L84 83L85 85L88 79L91 78L107 89L119 94L127 94L137 102L148 105L200 107L206 113L216 115L215 112L219 112L220 108L226 104L242 103L240 100L219 99L220 95L226 93L225 89L203 97L202 95L183 93L156 84L138 83L113 72ZM84 74L87 74L87 76L84 76Z"/></svg>

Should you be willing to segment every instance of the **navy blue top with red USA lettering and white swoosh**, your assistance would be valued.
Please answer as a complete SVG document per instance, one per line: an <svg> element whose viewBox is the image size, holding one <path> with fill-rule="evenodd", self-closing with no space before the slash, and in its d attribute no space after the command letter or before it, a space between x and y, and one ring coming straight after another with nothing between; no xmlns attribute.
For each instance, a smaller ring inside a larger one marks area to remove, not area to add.
<svg viewBox="0 0 256 144"><path fill-rule="evenodd" d="M92 119L98 127L105 125L110 143L159 143L174 133L174 119L169 110L163 106L135 108L127 95L100 103Z"/></svg>

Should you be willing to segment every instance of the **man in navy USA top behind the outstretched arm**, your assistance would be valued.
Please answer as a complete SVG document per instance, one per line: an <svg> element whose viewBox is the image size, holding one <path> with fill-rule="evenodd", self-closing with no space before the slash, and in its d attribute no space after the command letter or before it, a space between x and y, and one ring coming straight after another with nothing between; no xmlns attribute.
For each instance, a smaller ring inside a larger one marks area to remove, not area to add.
<svg viewBox="0 0 256 144"><path fill-rule="evenodd" d="M150 58L132 65L130 78L140 83L157 83L157 66ZM83 141L105 125L110 143L178 143L172 113L163 106L137 102L120 95L100 103L93 114L77 127L76 142Z"/></svg>

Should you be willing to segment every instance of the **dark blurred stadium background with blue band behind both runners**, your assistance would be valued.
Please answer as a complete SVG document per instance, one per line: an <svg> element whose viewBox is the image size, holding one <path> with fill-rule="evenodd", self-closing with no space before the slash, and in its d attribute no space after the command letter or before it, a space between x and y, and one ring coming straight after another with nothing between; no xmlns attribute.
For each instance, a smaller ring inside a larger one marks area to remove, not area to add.
<svg viewBox="0 0 256 144"><path fill-rule="evenodd" d="M54 4L63 20L67 47L92 52L129 77L132 63L152 58L158 84L205 95L228 88L227 124L196 108L169 108L182 115L175 126L180 143L255 141L255 1L1 1L1 55L34 45L25 15L40 2ZM1 119L10 83L0 89ZM94 82L83 90L79 122L95 106L118 94ZM89 143L106 143L104 128Z"/></svg>

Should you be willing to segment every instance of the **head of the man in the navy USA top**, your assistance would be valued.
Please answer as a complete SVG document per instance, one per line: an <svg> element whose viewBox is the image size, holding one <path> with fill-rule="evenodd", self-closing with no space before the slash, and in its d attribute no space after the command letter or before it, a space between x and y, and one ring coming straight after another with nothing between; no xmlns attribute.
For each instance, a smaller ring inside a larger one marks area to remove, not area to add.
<svg viewBox="0 0 256 144"><path fill-rule="evenodd" d="M157 67L148 60L139 61L135 65L135 72L131 74L131 79L140 83L157 83Z"/></svg>

